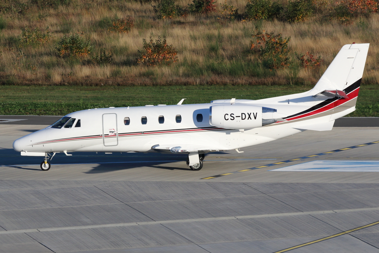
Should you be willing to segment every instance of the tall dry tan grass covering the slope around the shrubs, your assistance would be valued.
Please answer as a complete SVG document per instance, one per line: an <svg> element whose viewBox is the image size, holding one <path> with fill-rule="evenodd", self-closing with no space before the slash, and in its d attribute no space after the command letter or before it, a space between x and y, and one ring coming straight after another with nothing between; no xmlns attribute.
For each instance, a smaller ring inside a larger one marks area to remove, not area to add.
<svg viewBox="0 0 379 253"><path fill-rule="evenodd" d="M174 85L174 84L314 84L344 44L371 43L364 82L379 81L379 14L342 25L322 16L290 24L273 21L218 19L220 13L188 15L174 20L158 20L149 3L76 0L58 9L29 9L25 16L2 14L0 23L0 83L73 85ZM190 0L180 0L186 7ZM218 6L224 0L218 0ZM246 0L229 0L244 12ZM129 33L110 33L116 19L130 16L135 25ZM19 49L21 28L28 25L53 32L50 42ZM291 36L289 49L312 52L324 60L319 70L287 69L270 71L249 49L255 27ZM55 47L63 35L83 31L94 51L105 48L114 61L93 65L88 57L61 58ZM142 39L166 36L178 50L178 61L170 66L145 67L137 64Z"/></svg>

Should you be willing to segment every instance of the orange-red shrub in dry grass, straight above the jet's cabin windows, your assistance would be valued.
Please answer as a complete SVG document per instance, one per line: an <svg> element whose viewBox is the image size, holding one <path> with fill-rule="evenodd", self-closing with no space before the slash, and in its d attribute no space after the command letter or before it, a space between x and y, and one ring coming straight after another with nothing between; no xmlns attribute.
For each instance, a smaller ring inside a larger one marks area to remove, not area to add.
<svg viewBox="0 0 379 253"><path fill-rule="evenodd" d="M147 66L155 66L157 64L169 65L178 60L176 56L178 51L172 45L167 45L165 36L163 36L163 41L161 40L161 36L158 36L155 42L153 42L151 37L149 42L143 39L143 50L137 51L139 53L137 62Z"/></svg>

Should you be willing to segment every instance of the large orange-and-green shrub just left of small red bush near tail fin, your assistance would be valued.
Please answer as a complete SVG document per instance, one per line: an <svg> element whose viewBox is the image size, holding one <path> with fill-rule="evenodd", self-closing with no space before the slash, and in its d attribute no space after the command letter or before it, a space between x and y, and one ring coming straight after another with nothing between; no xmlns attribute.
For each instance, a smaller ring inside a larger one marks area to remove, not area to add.
<svg viewBox="0 0 379 253"><path fill-rule="evenodd" d="M288 57L288 42L291 37L282 38L282 34L274 35L274 32L263 33L256 30L255 34L251 35L255 41L250 41L250 49L253 50L256 45L258 56L263 60L268 60L268 67L270 69L284 68L289 65L290 58Z"/></svg>

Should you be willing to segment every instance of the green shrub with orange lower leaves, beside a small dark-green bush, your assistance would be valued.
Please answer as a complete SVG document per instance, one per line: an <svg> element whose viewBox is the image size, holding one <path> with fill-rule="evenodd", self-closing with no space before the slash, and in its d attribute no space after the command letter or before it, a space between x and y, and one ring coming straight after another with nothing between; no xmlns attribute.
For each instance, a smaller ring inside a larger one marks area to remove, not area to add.
<svg viewBox="0 0 379 253"><path fill-rule="evenodd" d="M82 39L79 33L76 32L69 37L63 35L63 38L58 42L58 47L55 49L58 51L61 57L85 57L93 49L90 44L91 41L89 39Z"/></svg>

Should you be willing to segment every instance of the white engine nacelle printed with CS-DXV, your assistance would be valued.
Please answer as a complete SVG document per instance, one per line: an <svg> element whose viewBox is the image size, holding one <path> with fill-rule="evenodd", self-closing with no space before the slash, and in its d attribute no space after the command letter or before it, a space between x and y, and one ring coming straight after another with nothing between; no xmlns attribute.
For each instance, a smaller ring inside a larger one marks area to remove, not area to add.
<svg viewBox="0 0 379 253"><path fill-rule="evenodd" d="M209 109L209 124L212 126L229 129L251 129L262 126L261 106L212 105Z"/></svg>

